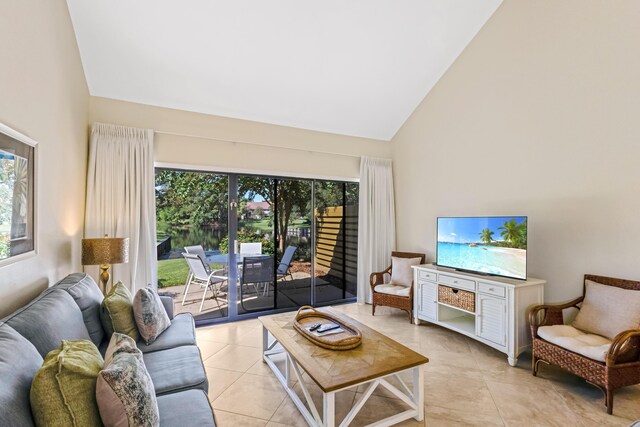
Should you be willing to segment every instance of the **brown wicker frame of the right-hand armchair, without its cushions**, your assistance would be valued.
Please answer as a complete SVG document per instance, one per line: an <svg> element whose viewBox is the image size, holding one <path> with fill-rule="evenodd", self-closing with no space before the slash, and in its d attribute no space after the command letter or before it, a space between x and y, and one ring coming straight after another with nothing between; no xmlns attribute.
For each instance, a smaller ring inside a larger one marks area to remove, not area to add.
<svg viewBox="0 0 640 427"><path fill-rule="evenodd" d="M640 282L611 277L585 275L585 282L591 280L602 285L638 290ZM566 304L539 305L529 313L533 338L532 373L538 374L539 364L557 365L598 387L605 396L607 413L613 412L613 394L616 389L640 384L640 329L619 333L606 353L605 361L599 362L583 355L552 344L538 335L541 326L562 325L562 311L567 308L580 309L583 296Z"/></svg>

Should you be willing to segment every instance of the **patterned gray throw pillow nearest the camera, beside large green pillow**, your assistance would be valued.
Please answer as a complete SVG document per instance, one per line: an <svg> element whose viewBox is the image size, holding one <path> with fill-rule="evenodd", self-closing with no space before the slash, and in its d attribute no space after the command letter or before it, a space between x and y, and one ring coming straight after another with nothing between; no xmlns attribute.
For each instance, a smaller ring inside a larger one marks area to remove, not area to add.
<svg viewBox="0 0 640 427"><path fill-rule="evenodd" d="M105 427L159 426L153 382L135 341L116 332L105 355L108 362L96 384L96 401Z"/></svg>

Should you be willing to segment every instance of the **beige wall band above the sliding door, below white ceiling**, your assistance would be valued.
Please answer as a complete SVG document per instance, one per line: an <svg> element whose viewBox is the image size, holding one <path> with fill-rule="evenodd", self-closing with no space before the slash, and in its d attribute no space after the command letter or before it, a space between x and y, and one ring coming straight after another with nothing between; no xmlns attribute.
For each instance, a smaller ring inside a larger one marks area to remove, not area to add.
<svg viewBox="0 0 640 427"><path fill-rule="evenodd" d="M155 136L155 160L216 170L242 170L310 177L357 178L360 159L355 156L391 157L389 142L230 119L125 101L91 97L91 122L151 128L186 135L206 136L247 145L203 138Z"/></svg>

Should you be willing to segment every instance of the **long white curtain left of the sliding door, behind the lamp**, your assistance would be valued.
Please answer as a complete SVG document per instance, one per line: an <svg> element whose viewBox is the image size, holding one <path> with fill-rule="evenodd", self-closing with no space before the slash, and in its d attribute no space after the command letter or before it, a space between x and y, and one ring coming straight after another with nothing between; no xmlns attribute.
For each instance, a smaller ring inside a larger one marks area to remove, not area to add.
<svg viewBox="0 0 640 427"><path fill-rule="evenodd" d="M91 128L85 238L128 237L129 263L112 266L132 292L157 286L153 131L94 123ZM91 273L97 268L87 269ZM94 273L97 279L97 273Z"/></svg>

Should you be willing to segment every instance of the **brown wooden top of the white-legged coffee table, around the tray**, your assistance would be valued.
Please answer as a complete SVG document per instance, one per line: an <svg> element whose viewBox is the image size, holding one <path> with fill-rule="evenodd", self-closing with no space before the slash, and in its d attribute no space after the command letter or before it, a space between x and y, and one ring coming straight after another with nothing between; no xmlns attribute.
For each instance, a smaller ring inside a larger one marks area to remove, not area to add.
<svg viewBox="0 0 640 427"><path fill-rule="evenodd" d="M362 344L347 351L318 347L294 329L295 313L263 316L259 320L324 392L339 390L429 362L423 355L344 314L328 308L321 310L357 327L362 332Z"/></svg>

